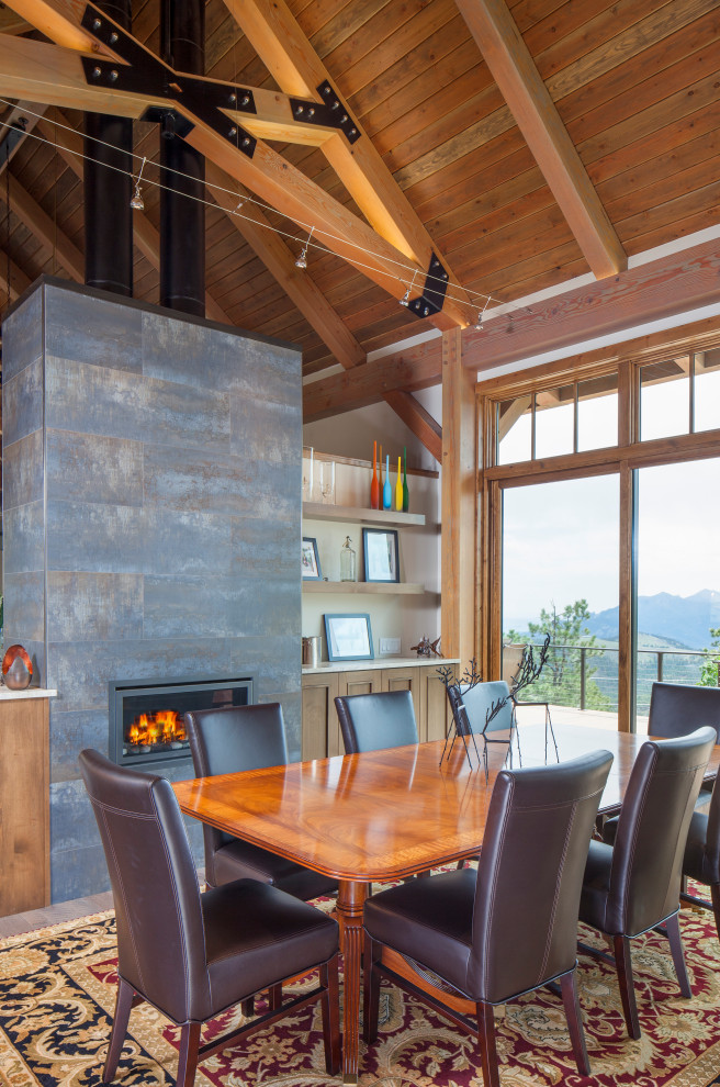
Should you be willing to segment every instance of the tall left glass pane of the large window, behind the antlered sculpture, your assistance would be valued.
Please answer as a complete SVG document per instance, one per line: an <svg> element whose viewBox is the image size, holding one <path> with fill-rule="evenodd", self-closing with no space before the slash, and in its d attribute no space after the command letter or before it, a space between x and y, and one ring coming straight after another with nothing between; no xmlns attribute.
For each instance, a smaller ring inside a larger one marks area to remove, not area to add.
<svg viewBox="0 0 720 1087"><path fill-rule="evenodd" d="M503 494L503 640L551 636L527 698L577 707L603 728L618 724L618 534L617 474Z"/></svg>

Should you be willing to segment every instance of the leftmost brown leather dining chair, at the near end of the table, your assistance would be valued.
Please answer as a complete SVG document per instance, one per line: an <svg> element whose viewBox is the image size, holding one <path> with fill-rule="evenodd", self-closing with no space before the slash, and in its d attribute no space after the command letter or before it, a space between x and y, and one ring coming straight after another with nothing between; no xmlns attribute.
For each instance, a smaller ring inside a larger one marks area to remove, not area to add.
<svg viewBox="0 0 720 1087"><path fill-rule="evenodd" d="M140 1000L181 1027L179 1087L191 1087L199 1058L318 1000L326 1067L335 1075L340 1065L337 922L257 879L201 894L169 782L116 766L98 751L82 751L79 762L117 924L117 998L102 1083L115 1075L131 1009ZM317 987L282 1005L282 982L316 967ZM261 989L271 994L266 1015L200 1044L205 1021Z"/></svg>

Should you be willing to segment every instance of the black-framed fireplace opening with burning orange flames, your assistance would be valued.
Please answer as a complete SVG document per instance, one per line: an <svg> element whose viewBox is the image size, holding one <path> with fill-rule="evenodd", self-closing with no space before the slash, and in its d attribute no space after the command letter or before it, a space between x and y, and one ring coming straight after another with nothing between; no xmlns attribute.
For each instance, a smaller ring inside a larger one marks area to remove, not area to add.
<svg viewBox="0 0 720 1087"><path fill-rule="evenodd" d="M108 687L110 758L142 770L190 758L183 714L252 702L251 676L111 680Z"/></svg>

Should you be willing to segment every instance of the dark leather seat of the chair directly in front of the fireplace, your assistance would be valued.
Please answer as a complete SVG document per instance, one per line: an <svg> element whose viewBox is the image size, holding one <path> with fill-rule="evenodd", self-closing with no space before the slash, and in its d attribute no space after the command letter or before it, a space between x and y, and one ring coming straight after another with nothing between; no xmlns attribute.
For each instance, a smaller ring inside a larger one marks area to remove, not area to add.
<svg viewBox="0 0 720 1087"><path fill-rule="evenodd" d="M212 863L211 882L216 887L234 879L258 879L303 900L337 890L337 883L330 876L312 872L240 838L233 838L216 850Z"/></svg>

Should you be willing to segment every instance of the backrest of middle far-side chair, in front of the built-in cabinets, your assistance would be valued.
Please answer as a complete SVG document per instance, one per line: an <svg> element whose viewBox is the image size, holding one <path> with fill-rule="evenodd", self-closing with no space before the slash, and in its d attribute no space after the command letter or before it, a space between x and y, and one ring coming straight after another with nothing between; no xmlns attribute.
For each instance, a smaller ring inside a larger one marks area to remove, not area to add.
<svg viewBox="0 0 720 1087"><path fill-rule="evenodd" d="M417 743L417 722L409 691L340 695L335 699L347 754Z"/></svg>

